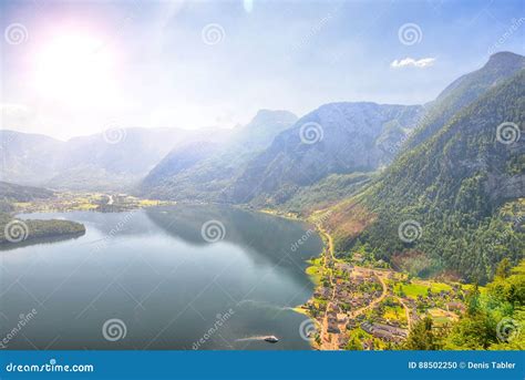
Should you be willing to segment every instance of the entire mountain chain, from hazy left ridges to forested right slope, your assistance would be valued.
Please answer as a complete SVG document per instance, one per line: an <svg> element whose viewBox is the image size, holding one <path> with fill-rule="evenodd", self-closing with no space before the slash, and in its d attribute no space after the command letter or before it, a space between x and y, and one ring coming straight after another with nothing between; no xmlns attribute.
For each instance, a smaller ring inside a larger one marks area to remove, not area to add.
<svg viewBox="0 0 525 380"><path fill-rule="evenodd" d="M367 245L399 265L411 255L420 273L486 279L524 249L505 208L523 207L525 195L524 69L524 57L496 53L425 105L339 102L300 119L262 110L228 131L127 129L110 142L2 131L2 179L302 215L322 208L341 251ZM498 141L502 123L514 141ZM399 239L406 219L423 238ZM495 230L500 246L486 247Z"/></svg>

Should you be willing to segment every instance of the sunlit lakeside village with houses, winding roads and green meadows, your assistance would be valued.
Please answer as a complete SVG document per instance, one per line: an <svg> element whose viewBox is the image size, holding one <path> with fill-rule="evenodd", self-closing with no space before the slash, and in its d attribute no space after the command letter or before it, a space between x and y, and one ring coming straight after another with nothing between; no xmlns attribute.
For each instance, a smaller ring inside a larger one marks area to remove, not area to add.
<svg viewBox="0 0 525 380"><path fill-rule="evenodd" d="M362 253L334 258L331 238L325 237L328 248L307 269L317 285L313 297L298 308L316 321L309 331L316 349L393 349L421 318L443 329L465 311L469 286L411 278Z"/></svg>

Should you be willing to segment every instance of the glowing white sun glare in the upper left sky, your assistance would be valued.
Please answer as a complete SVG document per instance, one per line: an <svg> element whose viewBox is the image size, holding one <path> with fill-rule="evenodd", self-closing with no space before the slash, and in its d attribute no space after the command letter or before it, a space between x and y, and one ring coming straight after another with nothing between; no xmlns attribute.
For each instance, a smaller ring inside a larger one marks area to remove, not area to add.
<svg viewBox="0 0 525 380"><path fill-rule="evenodd" d="M92 104L114 92L110 47L93 35L53 38L37 53L34 62L34 83L44 99Z"/></svg>

